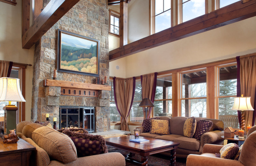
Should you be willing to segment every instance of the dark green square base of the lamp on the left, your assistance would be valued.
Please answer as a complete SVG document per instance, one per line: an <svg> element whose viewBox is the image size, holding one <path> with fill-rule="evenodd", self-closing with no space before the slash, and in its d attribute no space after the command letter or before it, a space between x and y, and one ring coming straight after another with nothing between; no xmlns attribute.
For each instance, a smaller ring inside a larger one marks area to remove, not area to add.
<svg viewBox="0 0 256 166"><path fill-rule="evenodd" d="M10 134L9 130L16 129L16 111L15 105L6 105L4 110L4 134Z"/></svg>

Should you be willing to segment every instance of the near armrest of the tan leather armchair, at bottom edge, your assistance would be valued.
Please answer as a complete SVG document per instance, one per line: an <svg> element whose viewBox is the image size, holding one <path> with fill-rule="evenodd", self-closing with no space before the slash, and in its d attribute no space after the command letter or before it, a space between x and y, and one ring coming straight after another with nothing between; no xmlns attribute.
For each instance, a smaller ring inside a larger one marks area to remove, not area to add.
<svg viewBox="0 0 256 166"><path fill-rule="evenodd" d="M229 159L222 159L217 157L209 157L209 156L203 156L203 155L188 155L187 157L187 166L244 166L242 162L238 160L229 160Z"/></svg>

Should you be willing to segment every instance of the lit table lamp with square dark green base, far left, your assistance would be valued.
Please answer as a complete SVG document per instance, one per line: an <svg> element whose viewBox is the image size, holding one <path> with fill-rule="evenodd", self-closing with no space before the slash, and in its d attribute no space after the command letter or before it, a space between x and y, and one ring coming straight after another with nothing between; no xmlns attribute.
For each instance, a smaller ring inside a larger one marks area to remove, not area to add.
<svg viewBox="0 0 256 166"><path fill-rule="evenodd" d="M0 101L8 101L9 105L4 106L4 134L9 130L16 129L16 111L18 107L11 105L11 102L26 102L20 91L20 79L0 78Z"/></svg>

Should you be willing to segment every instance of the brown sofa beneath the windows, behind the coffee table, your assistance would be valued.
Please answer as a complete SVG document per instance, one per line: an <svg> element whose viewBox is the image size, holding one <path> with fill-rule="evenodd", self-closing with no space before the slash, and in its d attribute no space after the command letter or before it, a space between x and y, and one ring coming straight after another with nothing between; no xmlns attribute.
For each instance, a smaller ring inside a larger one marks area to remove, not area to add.
<svg viewBox="0 0 256 166"><path fill-rule="evenodd" d="M179 142L176 156L180 158L187 158L189 154L202 154L204 144L218 144L223 145L224 139L221 138L224 135L224 124L218 119L207 119L202 117L196 117L196 121L201 119L211 120L213 122L210 132L204 133L201 140L196 138L188 138L183 134L183 127L188 117L159 117L161 120L169 120L170 135L158 135L150 134L150 132L144 132L143 126L140 128L140 136L156 138L161 140L169 140L173 142Z"/></svg>

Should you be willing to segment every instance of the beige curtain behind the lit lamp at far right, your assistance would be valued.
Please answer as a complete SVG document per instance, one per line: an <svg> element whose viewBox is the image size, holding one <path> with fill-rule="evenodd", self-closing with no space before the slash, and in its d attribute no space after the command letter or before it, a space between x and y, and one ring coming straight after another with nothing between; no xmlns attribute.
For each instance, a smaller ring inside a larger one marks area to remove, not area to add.
<svg viewBox="0 0 256 166"><path fill-rule="evenodd" d="M256 53L240 56L240 83L241 94L244 97L251 97L251 104L254 107L256 90ZM245 112L245 126L252 126L253 111Z"/></svg>

